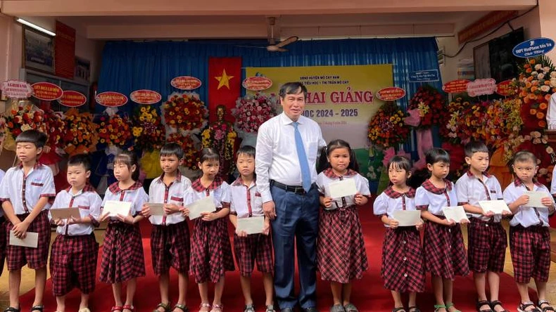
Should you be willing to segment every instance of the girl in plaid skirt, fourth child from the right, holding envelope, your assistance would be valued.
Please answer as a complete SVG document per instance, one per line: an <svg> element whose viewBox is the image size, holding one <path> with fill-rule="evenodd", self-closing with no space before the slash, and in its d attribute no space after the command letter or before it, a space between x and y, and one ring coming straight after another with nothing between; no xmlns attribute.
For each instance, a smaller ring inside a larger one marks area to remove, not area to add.
<svg viewBox="0 0 556 312"><path fill-rule="evenodd" d="M374 214L380 217L386 227L381 278L384 280L384 287L392 293L393 312L405 311L402 292L409 292L407 311L419 311L415 302L417 292L424 292L424 263L419 235L423 222L415 207L415 189L407 186L407 178L410 176L410 160L403 156L392 157L388 162L391 186L373 204ZM398 220L394 218L399 211L416 212L418 219L412 226L399 226Z"/></svg>

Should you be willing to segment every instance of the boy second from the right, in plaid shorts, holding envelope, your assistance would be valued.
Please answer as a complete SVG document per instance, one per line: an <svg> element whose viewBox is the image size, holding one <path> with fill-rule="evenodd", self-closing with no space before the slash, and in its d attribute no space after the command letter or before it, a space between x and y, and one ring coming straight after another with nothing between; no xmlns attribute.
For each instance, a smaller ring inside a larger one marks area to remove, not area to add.
<svg viewBox="0 0 556 312"><path fill-rule="evenodd" d="M481 141L471 141L465 145L465 162L469 171L455 183L457 202L471 215L467 226L467 259L473 271L478 295L477 311L503 311L498 301L500 272L504 271L507 238L500 224L501 215L484 212L479 206L482 200L503 199L502 188L488 169L488 148ZM510 213L508 213L510 214ZM486 280L491 291L491 300L486 298ZM498 306L498 308L497 308Z"/></svg>

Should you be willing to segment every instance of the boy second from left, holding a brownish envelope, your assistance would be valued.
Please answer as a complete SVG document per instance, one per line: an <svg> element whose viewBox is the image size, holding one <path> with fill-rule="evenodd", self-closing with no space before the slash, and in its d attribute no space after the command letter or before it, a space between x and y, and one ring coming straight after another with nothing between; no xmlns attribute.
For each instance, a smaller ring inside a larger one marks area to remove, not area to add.
<svg viewBox="0 0 556 312"><path fill-rule="evenodd" d="M74 287L81 291L79 312L90 312L89 294L94 291L96 259L99 243L94 237L94 228L99 226L102 199L88 183L91 176L91 161L88 155L77 154L68 160L68 184L70 187L56 195L51 207L57 209L79 209L80 218L51 219L56 224L56 240L50 253L50 275L52 291L56 296L56 311L65 311L65 295Z"/></svg>

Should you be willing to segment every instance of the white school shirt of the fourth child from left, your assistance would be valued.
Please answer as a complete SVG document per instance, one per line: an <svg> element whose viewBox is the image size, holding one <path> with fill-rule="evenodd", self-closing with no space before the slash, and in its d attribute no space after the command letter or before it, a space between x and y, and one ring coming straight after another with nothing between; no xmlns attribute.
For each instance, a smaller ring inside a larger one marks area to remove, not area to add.
<svg viewBox="0 0 556 312"><path fill-rule="evenodd" d="M184 197L187 190L191 188L191 180L182 176L177 171L176 179L166 186L164 183L164 173L155 178L149 186L149 202L158 204L177 204L177 206L184 205ZM170 214L168 216L149 216L149 221L156 226L176 224L185 221L185 217L181 213Z"/></svg>

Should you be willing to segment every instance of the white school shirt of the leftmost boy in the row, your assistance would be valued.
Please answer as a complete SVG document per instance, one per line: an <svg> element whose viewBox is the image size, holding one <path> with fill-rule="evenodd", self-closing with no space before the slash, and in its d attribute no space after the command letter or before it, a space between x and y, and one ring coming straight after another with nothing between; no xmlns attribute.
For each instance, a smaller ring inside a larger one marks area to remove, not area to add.
<svg viewBox="0 0 556 312"><path fill-rule="evenodd" d="M9 200L15 214L32 212L41 197L56 197L52 171L44 164L37 162L27 176L23 173L23 164L12 167L0 182L0 202ZM46 203L42 210L50 206Z"/></svg>

